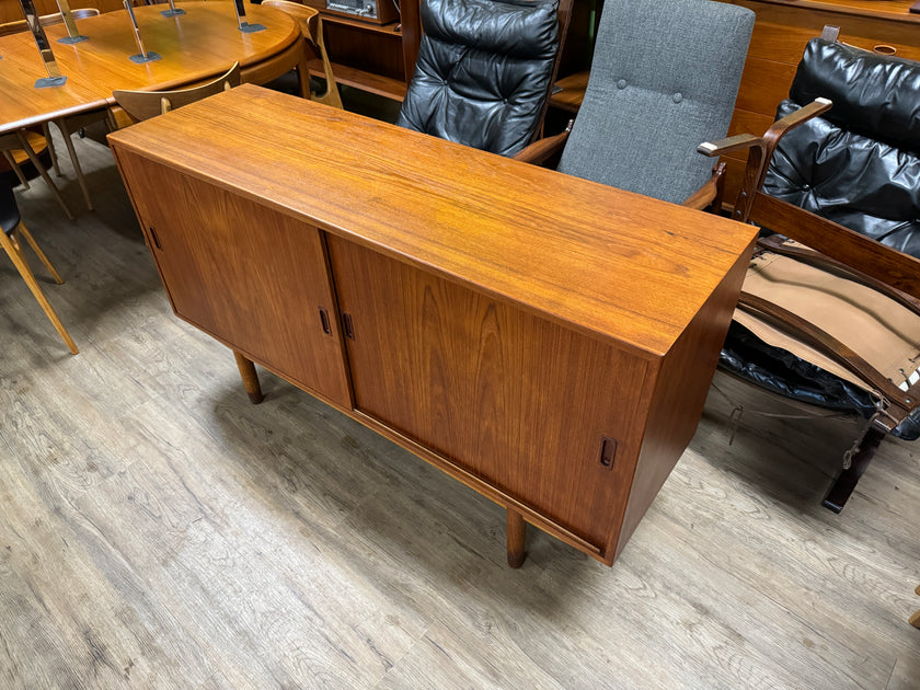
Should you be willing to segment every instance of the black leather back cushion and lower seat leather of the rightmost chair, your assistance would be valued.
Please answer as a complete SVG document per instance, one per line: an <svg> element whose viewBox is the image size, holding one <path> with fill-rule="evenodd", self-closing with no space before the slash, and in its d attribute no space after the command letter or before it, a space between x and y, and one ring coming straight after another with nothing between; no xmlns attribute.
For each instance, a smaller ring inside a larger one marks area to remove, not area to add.
<svg viewBox="0 0 920 690"><path fill-rule="evenodd" d="M789 133L763 191L920 257L920 64L814 38L780 117L814 99L824 116ZM720 367L801 402L870 417L869 393L733 322ZM915 411L894 432L920 436Z"/></svg>

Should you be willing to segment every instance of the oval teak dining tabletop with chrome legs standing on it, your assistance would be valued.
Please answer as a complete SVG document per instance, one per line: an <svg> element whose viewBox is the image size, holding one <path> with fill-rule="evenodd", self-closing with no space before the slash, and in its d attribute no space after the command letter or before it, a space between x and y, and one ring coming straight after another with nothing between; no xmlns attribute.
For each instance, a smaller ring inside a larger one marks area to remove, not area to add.
<svg viewBox="0 0 920 690"><path fill-rule="evenodd" d="M243 81L253 83L298 67L301 90L308 89L302 35L289 15L246 3L246 21L265 30L244 33L233 2L179 7L185 14L174 18L162 14L169 5L134 9L143 47L161 56L142 64L130 60L139 49L125 10L78 21L77 28L88 37L80 43L58 43L67 35L66 27L47 26L55 59L67 77L60 87L35 87L47 72L30 32L0 36L0 135L111 106L116 89L166 90L206 81L233 62L240 62Z"/></svg>

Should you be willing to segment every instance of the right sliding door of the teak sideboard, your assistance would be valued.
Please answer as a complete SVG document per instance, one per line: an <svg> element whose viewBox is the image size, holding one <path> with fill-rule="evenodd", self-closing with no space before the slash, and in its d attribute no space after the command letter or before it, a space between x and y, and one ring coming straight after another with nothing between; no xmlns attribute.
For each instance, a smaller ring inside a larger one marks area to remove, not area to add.
<svg viewBox="0 0 920 690"><path fill-rule="evenodd" d="M641 442L647 363L361 246L329 246L356 409L608 543ZM612 468L605 437L617 441Z"/></svg>

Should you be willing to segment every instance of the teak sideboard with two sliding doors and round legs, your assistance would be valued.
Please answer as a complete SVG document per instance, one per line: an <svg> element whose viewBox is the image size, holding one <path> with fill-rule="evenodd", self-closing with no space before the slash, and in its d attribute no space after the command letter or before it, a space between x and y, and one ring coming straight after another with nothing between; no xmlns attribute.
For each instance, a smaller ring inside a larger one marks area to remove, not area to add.
<svg viewBox="0 0 920 690"><path fill-rule="evenodd" d="M253 85L110 136L175 313L611 564L695 430L732 220Z"/></svg>

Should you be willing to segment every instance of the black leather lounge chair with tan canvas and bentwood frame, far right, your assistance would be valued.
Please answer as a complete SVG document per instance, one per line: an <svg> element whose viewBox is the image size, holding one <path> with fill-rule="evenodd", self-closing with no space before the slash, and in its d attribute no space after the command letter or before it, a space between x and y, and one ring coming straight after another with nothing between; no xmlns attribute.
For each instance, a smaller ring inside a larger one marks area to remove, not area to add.
<svg viewBox="0 0 920 690"><path fill-rule="evenodd" d="M920 436L920 64L833 38L808 43L760 138L766 161L749 163L736 217L777 234L760 242L720 366L870 421L823 502L839 513L886 434Z"/></svg>

